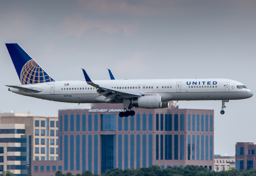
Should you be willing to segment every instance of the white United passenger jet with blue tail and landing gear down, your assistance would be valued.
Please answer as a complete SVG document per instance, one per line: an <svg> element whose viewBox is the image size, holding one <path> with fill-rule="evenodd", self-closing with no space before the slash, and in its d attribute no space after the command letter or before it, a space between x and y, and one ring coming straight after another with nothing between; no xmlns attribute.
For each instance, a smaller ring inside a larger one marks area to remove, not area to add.
<svg viewBox="0 0 256 176"><path fill-rule="evenodd" d="M244 84L230 79L92 80L84 69L83 80L53 79L19 44L5 44L22 85L6 85L20 95L66 103L123 103L120 117L134 116L132 107L167 108L169 101L221 100L221 114L229 100L253 96Z"/></svg>

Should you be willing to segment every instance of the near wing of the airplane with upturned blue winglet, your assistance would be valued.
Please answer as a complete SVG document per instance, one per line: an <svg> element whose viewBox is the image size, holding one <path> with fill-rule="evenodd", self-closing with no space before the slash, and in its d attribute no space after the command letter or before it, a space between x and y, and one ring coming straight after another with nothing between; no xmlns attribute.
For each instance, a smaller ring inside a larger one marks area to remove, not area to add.
<svg viewBox="0 0 256 176"><path fill-rule="evenodd" d="M98 89L97 92L99 93L98 96L101 96L101 95L105 96L106 98L104 100L107 100L107 102L114 100L116 98L134 98L134 97L141 96L141 94L137 92L128 92L120 89L114 89L114 88L94 84L90 79L90 77L85 72L85 70L83 68L82 70L84 72L86 83L92 85L93 87L96 87Z"/></svg>

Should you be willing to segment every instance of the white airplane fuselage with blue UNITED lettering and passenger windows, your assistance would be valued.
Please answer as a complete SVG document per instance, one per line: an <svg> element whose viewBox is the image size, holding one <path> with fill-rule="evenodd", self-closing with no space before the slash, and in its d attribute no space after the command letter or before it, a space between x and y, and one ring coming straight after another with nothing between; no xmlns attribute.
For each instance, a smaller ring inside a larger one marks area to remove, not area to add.
<svg viewBox="0 0 256 176"><path fill-rule="evenodd" d="M247 88L237 88L244 85L229 79L142 79L142 80L95 80L95 84L128 92L139 92L150 95L160 95L162 102L171 100L240 100L252 97L252 91ZM193 88L192 88L193 86ZM96 88L81 81L55 81L39 84L20 85L30 89L40 90L34 93L19 89L9 90L43 100L67 103L105 103L104 96L98 96ZM108 101L108 103L110 103ZM122 103L116 101L116 103Z"/></svg>

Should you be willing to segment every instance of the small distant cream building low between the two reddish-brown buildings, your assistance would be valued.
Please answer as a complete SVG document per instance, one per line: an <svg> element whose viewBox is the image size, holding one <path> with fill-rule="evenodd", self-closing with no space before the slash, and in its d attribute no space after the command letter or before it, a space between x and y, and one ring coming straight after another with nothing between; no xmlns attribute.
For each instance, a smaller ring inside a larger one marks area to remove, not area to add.
<svg viewBox="0 0 256 176"><path fill-rule="evenodd" d="M214 155L214 171L225 171L231 167L236 167L236 156L216 156Z"/></svg>

